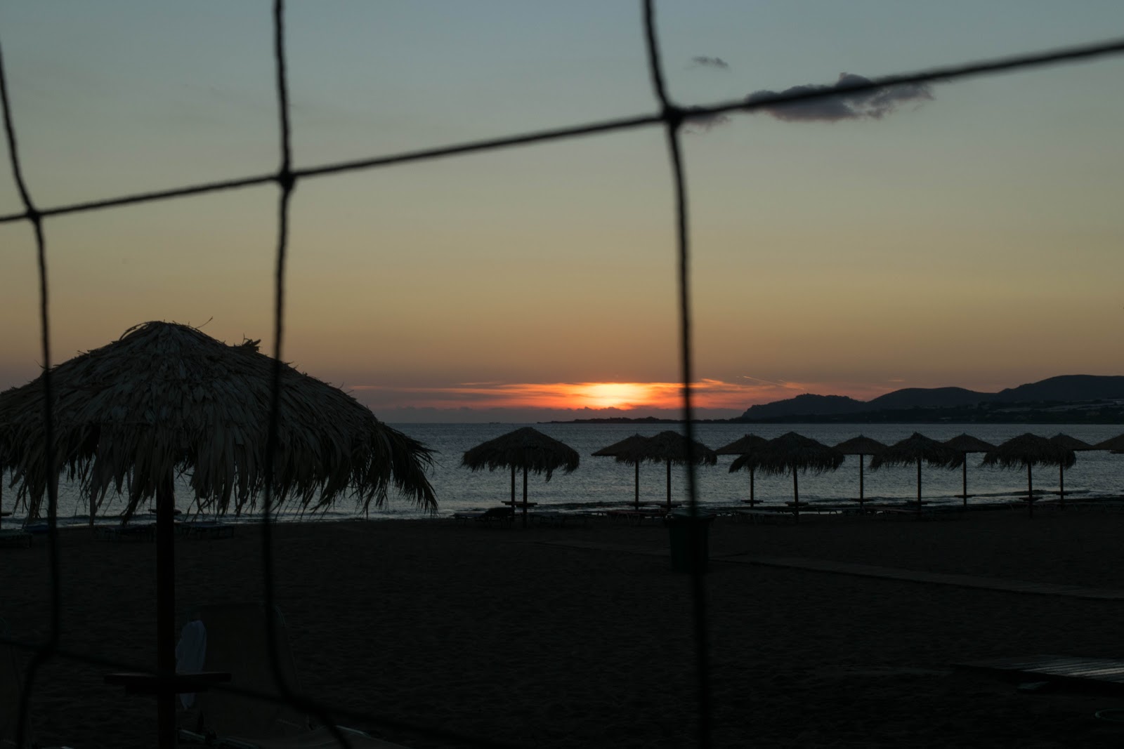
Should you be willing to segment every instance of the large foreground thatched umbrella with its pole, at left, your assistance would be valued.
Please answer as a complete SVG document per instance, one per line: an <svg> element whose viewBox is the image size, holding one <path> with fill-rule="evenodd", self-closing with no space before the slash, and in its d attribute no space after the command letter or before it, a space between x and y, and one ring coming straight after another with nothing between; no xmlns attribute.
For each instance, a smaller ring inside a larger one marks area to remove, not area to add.
<svg viewBox="0 0 1124 749"><path fill-rule="evenodd" d="M110 487L127 492L128 519L156 500L156 629L161 746L174 742L174 479L191 471L203 509L253 508L269 486L279 502L328 506L351 491L381 505L392 485L436 508L425 477L430 451L374 418L343 391L281 365L279 429L270 445L275 360L257 341L227 346L194 328L146 322L54 367L57 465L81 481L90 512ZM43 383L0 393L0 442L18 497L38 513L48 475ZM266 475L272 453L273 473Z"/></svg>

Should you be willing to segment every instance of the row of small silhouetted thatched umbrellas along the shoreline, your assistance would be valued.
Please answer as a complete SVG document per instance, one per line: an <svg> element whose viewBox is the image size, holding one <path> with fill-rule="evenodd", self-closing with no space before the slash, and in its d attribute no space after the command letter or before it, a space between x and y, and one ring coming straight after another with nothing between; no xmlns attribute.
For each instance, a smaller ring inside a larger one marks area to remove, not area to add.
<svg viewBox="0 0 1124 749"><path fill-rule="evenodd" d="M671 466L672 464L714 465L719 455L737 456L729 466L729 472L750 472L750 505L755 503L754 474L791 474L792 499L796 517L800 512L800 490L798 474L823 473L835 471L843 464L845 456L859 456L859 505L865 501L863 486L863 464L870 456L870 467L882 466L917 466L917 504L922 509L922 465L940 468L963 469L963 503L968 505L968 460L969 453L982 453L982 465L995 465L1003 468L1026 468L1027 508L1034 511L1034 485L1031 469L1036 465L1058 466L1060 481L1060 501L1066 499L1066 468L1076 462L1079 450L1118 450L1124 449L1124 435L1105 440L1098 445L1089 445L1068 435L1055 435L1051 438L1037 435L1022 435L1001 445L991 445L970 435L960 435L946 441L937 441L914 432L894 445L885 445L878 440L860 435L834 447L824 445L808 437L788 432L774 439L765 439L756 435L745 435L729 445L716 450L701 442L688 444L683 435L676 431L664 431L654 437L633 435L619 442L614 442L593 453L595 456L613 457L618 463L632 464L635 469L635 506L640 508L640 466L645 462L663 463L668 472L667 506L671 508ZM578 467L578 453L559 440L542 432L524 427L507 435L488 440L468 450L462 465L478 471L499 467L511 468L511 501L515 508L518 503L515 496L515 472L523 469L523 522L526 524L527 513L527 472L545 473L550 481L556 469L570 473Z"/></svg>

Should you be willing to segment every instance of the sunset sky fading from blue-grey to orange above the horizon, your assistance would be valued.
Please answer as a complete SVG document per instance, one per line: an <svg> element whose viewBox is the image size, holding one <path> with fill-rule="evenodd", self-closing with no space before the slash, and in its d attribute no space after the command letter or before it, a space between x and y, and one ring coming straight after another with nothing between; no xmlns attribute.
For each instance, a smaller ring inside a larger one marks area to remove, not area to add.
<svg viewBox="0 0 1124 749"><path fill-rule="evenodd" d="M4 3L34 200L275 168L270 21L264 0ZM689 106L1124 36L1124 3L683 0L658 22ZM299 166L655 109L638 2L293 2L287 25ZM691 128L699 414L1124 374L1122 81L1112 58L880 118ZM272 347L277 192L49 220L54 359L152 319ZM284 358L384 420L676 414L659 128L306 180L291 230ZM42 360L36 284L29 226L0 226L0 389Z"/></svg>

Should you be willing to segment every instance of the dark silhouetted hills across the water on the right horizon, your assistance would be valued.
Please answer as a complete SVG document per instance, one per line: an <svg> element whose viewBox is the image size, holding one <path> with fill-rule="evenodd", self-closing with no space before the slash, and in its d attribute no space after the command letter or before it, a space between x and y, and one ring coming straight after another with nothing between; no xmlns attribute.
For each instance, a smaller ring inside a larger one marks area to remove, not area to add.
<svg viewBox="0 0 1124 749"><path fill-rule="evenodd" d="M1124 400L1124 376L1061 375L1041 382L1007 387L998 393L980 393L963 387L905 387L870 401L845 395L804 394L783 401L751 405L740 420L764 421L792 417L827 417L909 409L953 409L981 403L1080 403Z"/></svg>

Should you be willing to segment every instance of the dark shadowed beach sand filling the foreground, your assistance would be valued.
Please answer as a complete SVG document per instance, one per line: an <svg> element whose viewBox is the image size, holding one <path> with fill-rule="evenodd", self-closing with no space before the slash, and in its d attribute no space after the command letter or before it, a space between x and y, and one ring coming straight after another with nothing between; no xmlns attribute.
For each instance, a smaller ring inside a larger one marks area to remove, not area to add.
<svg viewBox="0 0 1124 749"><path fill-rule="evenodd" d="M261 600L260 531L179 544L179 602ZM953 521L719 519L711 555L799 556L1124 588L1124 513L981 512ZM559 542L662 549L658 555ZM347 522L277 529L278 603L302 688L411 747L697 746L691 588L668 531L600 521L522 529ZM2 615L48 622L45 548L3 549ZM154 546L63 538L63 643L152 663ZM1019 692L953 672L988 657L1124 657L1124 602L717 561L706 576L716 747L1117 747L1116 696ZM151 700L56 659L31 701L43 741L153 747Z"/></svg>

